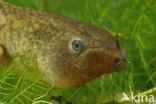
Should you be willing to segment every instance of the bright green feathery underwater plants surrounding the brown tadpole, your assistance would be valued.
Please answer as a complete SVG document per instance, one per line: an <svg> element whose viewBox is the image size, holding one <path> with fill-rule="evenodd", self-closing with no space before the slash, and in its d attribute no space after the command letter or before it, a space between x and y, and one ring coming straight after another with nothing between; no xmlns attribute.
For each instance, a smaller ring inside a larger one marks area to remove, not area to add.
<svg viewBox="0 0 156 104"><path fill-rule="evenodd" d="M125 49L127 63L74 89L53 88L15 75L11 65L0 70L2 104L129 104L127 94L156 96L155 0L7 0L13 4L61 14L107 28ZM156 97L155 97L156 99ZM142 102L143 104L146 102Z"/></svg>

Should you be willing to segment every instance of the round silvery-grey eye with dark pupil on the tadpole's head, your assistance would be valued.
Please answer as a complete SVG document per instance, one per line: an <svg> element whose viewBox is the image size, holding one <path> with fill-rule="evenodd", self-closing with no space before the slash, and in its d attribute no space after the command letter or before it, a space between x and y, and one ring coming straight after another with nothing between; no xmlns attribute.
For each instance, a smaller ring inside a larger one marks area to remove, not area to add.
<svg viewBox="0 0 156 104"><path fill-rule="evenodd" d="M73 38L69 42L69 48L74 53L81 53L83 49L85 48L84 40L81 38Z"/></svg>

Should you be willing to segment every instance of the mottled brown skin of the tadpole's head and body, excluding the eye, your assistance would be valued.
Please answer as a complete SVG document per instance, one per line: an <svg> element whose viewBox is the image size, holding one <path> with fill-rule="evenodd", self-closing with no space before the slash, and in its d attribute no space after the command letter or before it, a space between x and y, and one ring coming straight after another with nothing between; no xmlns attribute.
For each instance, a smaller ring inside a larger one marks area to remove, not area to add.
<svg viewBox="0 0 156 104"><path fill-rule="evenodd" d="M68 46L77 37L85 41L80 54ZM104 29L6 2L0 2L0 45L10 57L36 60L41 80L56 87L83 85L119 70L125 59L117 39Z"/></svg>

